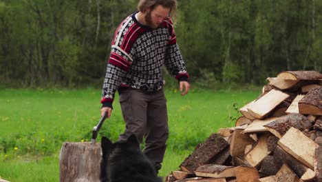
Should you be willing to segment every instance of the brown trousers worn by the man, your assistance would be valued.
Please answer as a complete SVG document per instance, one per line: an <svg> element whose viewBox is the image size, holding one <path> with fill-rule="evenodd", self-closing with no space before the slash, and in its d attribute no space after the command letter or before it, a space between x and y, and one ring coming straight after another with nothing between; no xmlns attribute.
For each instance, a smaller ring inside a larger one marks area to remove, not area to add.
<svg viewBox="0 0 322 182"><path fill-rule="evenodd" d="M163 89L146 92L140 89L122 88L120 105L126 123L119 139L136 134L140 143L145 139L143 153L154 163L162 163L169 136L167 100Z"/></svg>

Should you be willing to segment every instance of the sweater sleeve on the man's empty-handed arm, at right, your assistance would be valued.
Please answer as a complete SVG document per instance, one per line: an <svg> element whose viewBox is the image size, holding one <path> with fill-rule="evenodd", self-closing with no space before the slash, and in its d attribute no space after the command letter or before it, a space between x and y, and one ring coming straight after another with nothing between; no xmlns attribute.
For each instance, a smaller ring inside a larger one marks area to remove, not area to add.
<svg viewBox="0 0 322 182"><path fill-rule="evenodd" d="M187 81L189 74L186 72L186 65L182 59L171 20L169 20L169 33L165 65L172 77L175 77L178 81Z"/></svg>

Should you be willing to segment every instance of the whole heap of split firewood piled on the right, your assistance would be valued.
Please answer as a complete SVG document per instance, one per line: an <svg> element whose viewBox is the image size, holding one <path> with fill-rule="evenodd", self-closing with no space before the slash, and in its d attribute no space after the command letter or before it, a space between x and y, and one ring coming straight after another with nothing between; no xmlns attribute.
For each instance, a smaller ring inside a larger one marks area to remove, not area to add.
<svg viewBox="0 0 322 182"><path fill-rule="evenodd" d="M286 71L197 145L167 182L322 181L322 74Z"/></svg>

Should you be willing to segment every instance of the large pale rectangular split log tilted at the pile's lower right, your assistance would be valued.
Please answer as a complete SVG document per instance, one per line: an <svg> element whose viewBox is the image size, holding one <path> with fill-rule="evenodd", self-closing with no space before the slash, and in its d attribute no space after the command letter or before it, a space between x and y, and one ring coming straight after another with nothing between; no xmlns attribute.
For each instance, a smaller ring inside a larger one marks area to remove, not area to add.
<svg viewBox="0 0 322 182"><path fill-rule="evenodd" d="M301 163L314 170L314 150L316 143L300 130L290 128L277 143L283 150L294 156Z"/></svg>

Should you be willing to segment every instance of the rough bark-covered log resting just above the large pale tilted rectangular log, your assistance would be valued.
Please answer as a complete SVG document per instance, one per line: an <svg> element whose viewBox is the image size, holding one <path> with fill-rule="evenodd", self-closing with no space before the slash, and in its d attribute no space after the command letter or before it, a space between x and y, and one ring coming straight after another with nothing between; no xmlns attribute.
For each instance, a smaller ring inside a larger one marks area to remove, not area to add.
<svg viewBox="0 0 322 182"><path fill-rule="evenodd" d="M312 128L312 123L308 121L302 114L288 114L280 117L276 121L272 121L264 125L272 134L279 139L285 134L291 127L297 128L301 131Z"/></svg>

